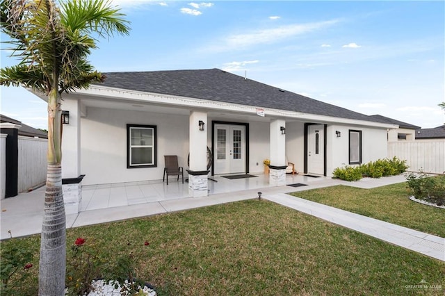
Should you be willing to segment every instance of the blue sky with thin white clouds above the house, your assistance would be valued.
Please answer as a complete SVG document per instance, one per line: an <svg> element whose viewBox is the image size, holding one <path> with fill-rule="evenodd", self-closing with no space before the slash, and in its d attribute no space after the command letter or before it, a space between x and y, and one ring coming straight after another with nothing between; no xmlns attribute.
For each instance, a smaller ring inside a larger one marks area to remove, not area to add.
<svg viewBox="0 0 445 296"><path fill-rule="evenodd" d="M445 122L444 1L113 3L131 33L100 40L101 72L216 67L366 115ZM17 63L7 54L1 67ZM47 128L46 103L21 88L1 87L0 110Z"/></svg>

